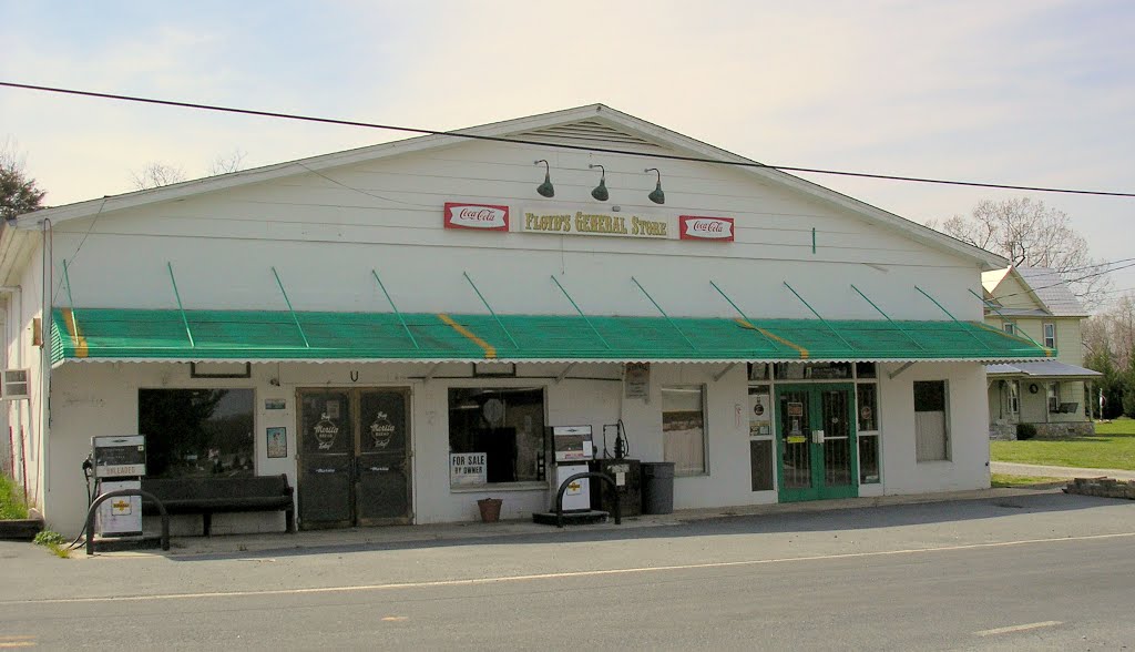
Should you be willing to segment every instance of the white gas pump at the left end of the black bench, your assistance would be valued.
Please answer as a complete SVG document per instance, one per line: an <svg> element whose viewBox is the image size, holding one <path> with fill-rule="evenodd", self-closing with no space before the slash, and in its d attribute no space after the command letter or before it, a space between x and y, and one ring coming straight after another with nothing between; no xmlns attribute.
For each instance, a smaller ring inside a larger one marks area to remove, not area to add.
<svg viewBox="0 0 1135 652"><path fill-rule="evenodd" d="M145 475L145 435L91 437L94 462L94 495L118 490L142 488ZM99 505L95 534L141 536L142 498L116 496Z"/></svg>

